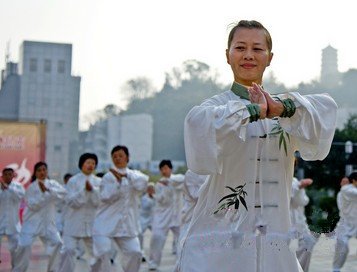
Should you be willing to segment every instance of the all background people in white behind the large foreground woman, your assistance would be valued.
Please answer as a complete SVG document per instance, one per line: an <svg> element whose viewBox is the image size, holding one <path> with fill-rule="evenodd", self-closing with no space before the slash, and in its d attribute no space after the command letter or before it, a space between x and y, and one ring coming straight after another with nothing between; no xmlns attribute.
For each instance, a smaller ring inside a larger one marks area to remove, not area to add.
<svg viewBox="0 0 357 272"><path fill-rule="evenodd" d="M47 271L75 271L76 260L88 252L91 271L139 271L142 262L149 270L159 269L169 231L173 234L172 254L181 253L182 241L193 224L194 208L202 185L209 176L187 170L173 174L170 160L162 160L161 178L156 183L138 170L127 167L129 150L112 150L113 168L95 174L97 156L85 153L79 158L80 172L66 174L63 184L47 175L47 164L34 167L32 183L25 190L13 181L14 170L4 168L0 190L0 235L8 239L12 271L26 271L31 246L40 238L48 255ZM311 232L304 208L309 203L305 188L312 179L293 178L290 218L291 240L297 239L296 257L304 272L309 271L313 248L320 234ZM25 200L23 222L19 205ZM338 272L348 254L348 241L357 236L357 172L341 180L337 195L340 221L336 226L333 271ZM151 231L149 254L143 249L144 234ZM181 244L180 244L181 241ZM178 263L176 264L177 269Z"/></svg>

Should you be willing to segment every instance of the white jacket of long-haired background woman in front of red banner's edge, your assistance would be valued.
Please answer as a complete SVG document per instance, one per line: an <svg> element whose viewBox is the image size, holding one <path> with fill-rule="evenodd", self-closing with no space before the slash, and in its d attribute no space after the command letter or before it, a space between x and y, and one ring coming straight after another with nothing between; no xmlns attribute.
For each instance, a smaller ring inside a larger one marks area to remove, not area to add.
<svg viewBox="0 0 357 272"><path fill-rule="evenodd" d="M48 230L57 231L55 205L58 199L65 196L66 190L55 180L46 179L44 184L49 191L43 193L37 180L26 191L22 233L45 236Z"/></svg>

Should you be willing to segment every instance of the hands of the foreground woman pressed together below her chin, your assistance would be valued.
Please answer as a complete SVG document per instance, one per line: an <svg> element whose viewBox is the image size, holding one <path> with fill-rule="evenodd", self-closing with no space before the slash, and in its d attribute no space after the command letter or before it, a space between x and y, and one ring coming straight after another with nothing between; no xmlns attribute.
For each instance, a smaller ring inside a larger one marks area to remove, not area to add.
<svg viewBox="0 0 357 272"><path fill-rule="evenodd" d="M274 100L260 85L253 82L253 86L248 88L248 93L250 102L260 107L260 119L271 119L283 113L283 104Z"/></svg>

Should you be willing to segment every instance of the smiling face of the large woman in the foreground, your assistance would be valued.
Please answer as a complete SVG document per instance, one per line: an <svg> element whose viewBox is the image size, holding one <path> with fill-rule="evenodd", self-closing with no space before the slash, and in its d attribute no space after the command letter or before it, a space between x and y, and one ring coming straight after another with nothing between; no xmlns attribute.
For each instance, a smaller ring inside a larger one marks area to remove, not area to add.
<svg viewBox="0 0 357 272"><path fill-rule="evenodd" d="M270 65L273 53L269 51L263 29L237 28L230 47L226 50L234 81L251 86L262 83L265 68Z"/></svg>

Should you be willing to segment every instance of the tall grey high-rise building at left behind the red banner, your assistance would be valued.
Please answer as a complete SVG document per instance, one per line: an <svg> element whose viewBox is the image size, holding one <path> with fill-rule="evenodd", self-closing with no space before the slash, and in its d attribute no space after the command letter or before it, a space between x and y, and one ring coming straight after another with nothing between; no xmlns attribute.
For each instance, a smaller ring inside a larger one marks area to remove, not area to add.
<svg viewBox="0 0 357 272"><path fill-rule="evenodd" d="M19 63L7 62L2 72L0 100L7 107L0 110L0 118L45 120L46 162L57 179L78 159L81 78L71 71L71 44L24 41Z"/></svg>

